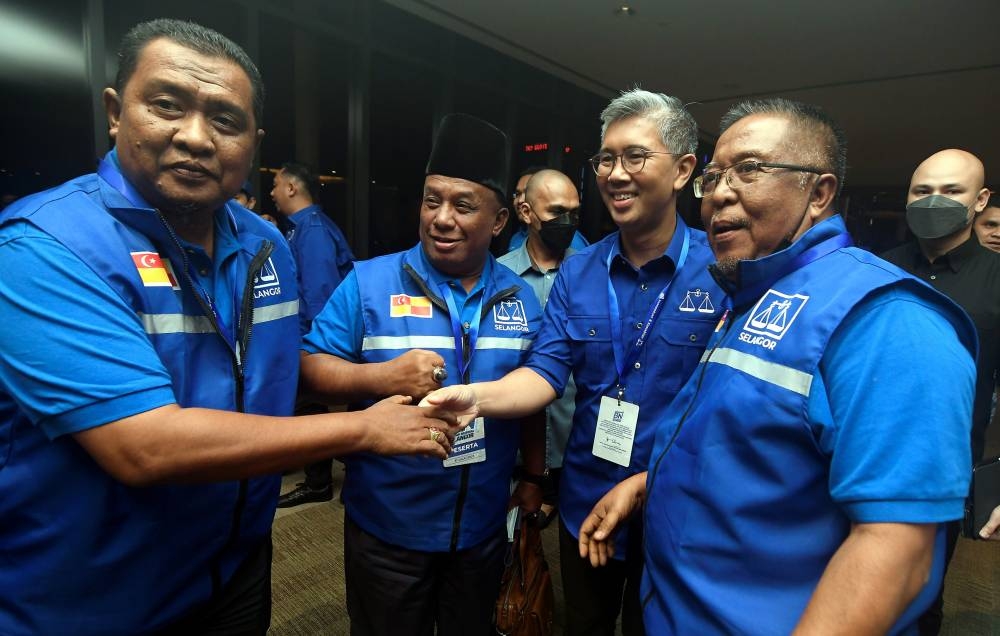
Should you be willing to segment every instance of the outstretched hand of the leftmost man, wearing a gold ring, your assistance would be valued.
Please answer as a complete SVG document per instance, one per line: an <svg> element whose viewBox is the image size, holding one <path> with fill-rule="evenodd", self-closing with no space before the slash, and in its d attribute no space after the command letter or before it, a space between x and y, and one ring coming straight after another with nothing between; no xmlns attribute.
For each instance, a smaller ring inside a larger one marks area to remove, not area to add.
<svg viewBox="0 0 1000 636"><path fill-rule="evenodd" d="M447 458L455 433L464 425L446 409L408 406L411 402L408 396L394 395L361 411L371 420L364 448L379 455Z"/></svg>

